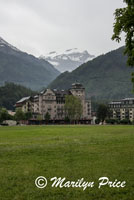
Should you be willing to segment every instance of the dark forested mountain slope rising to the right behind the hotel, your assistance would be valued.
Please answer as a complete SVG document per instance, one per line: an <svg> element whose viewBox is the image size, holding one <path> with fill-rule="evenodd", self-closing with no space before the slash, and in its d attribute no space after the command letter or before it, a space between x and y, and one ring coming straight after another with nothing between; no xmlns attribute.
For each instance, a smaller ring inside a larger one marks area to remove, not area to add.
<svg viewBox="0 0 134 200"><path fill-rule="evenodd" d="M126 66L124 48L111 51L89 61L72 72L64 72L50 85L50 88L67 89L75 81L86 88L87 96L97 100L114 100L132 95L131 72Z"/></svg>

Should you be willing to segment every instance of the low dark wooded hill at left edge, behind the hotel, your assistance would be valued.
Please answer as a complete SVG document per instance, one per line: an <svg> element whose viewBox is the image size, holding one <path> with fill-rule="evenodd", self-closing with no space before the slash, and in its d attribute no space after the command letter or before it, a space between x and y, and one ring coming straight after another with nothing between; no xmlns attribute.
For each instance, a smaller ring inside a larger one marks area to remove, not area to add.
<svg viewBox="0 0 134 200"><path fill-rule="evenodd" d="M22 97L32 96L34 94L36 94L36 92L23 86L15 85L14 83L6 83L4 86L0 87L0 107L14 110L16 101L20 100Z"/></svg>

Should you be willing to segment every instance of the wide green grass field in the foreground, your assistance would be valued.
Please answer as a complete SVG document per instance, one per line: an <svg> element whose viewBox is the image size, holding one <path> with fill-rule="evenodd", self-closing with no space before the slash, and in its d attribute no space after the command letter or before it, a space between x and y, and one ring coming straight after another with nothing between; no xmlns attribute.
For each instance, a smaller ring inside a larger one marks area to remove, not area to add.
<svg viewBox="0 0 134 200"><path fill-rule="evenodd" d="M44 176L48 185L35 186ZM93 188L52 188L52 177L94 181ZM98 189L98 179L126 181ZM0 127L0 200L133 200L134 126Z"/></svg>

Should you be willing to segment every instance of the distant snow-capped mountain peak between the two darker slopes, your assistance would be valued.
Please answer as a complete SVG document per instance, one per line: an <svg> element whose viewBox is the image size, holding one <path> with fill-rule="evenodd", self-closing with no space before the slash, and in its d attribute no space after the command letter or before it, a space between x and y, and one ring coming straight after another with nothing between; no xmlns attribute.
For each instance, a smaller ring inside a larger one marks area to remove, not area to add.
<svg viewBox="0 0 134 200"><path fill-rule="evenodd" d="M77 48L68 49L63 54L58 54L55 51L50 52L46 56L41 56L51 63L60 72L72 71L81 64L93 59L95 56L90 55L88 51L80 52Z"/></svg>

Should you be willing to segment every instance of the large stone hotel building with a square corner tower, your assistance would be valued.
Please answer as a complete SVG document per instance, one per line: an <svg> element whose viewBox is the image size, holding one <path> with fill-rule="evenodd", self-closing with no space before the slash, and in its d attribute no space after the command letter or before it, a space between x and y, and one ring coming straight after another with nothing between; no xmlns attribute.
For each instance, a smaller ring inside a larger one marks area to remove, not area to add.
<svg viewBox="0 0 134 200"><path fill-rule="evenodd" d="M69 90L46 89L34 97L24 97L16 102L16 108L32 112L34 119L44 120L46 113L49 113L51 120L64 120L66 95L73 95L81 100L81 120L91 121L91 100L86 99L85 88L80 83L72 84Z"/></svg>

